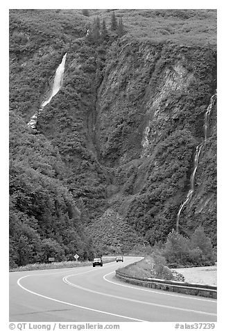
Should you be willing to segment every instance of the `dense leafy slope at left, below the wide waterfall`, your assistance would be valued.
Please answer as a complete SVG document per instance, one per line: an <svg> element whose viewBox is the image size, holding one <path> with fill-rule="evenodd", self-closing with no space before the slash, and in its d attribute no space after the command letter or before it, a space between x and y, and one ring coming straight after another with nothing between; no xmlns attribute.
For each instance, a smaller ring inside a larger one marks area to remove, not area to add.
<svg viewBox="0 0 226 331"><path fill-rule="evenodd" d="M58 150L10 113L10 151L11 266L92 256Z"/></svg>

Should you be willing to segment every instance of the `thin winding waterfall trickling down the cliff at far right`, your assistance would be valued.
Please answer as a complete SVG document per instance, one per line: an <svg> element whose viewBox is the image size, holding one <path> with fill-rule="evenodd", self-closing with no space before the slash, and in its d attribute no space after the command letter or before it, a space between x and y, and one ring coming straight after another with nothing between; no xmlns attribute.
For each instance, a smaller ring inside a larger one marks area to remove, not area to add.
<svg viewBox="0 0 226 331"><path fill-rule="evenodd" d="M176 232L178 232L178 230L179 230L180 213L182 212L182 209L184 208L184 206L191 200L193 192L195 191L195 172L198 168L198 159L199 159L199 156L200 156L200 152L202 150L203 145L207 141L207 134L208 134L208 128L209 128L209 115L211 113L211 110L212 110L215 102L216 102L216 96L217 96L216 93L211 96L209 106L208 106L207 111L206 111L205 116L204 116L204 125L203 125L203 127L204 127L205 140L201 144L199 144L196 147L196 150L195 150L194 168L193 168L193 172L191 174L191 179L190 179L190 190L189 190L189 193L186 195L186 199L181 204L180 209L177 213Z"/></svg>

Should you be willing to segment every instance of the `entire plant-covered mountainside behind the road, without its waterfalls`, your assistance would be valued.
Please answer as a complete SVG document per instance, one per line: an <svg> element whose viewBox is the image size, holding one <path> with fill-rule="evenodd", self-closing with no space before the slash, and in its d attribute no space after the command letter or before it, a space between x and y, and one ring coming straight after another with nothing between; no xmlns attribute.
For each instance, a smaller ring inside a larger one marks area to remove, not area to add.
<svg viewBox="0 0 226 331"><path fill-rule="evenodd" d="M215 10L10 10L10 265L166 241L215 90ZM216 105L180 232L200 225L216 245Z"/></svg>

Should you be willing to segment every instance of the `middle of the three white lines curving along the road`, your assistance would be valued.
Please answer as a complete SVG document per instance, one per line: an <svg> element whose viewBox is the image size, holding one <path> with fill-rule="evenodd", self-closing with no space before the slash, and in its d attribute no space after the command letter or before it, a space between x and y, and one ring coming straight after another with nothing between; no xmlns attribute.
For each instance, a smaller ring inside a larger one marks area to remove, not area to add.
<svg viewBox="0 0 226 331"><path fill-rule="evenodd" d="M114 271L113 271L114 272ZM107 275L110 275L107 274ZM67 278L69 277L72 277L72 276L75 276L75 275L67 275L67 276L64 276L62 278L63 282L66 283L66 284L69 284L73 287L76 287L78 289L82 289L83 291L87 291L87 292L90 292L90 293L95 293L95 294L100 294L101 296L108 296L110 298L116 298L116 299L120 299L120 300L125 300L125 301L130 301L130 302L136 302L136 303L141 303L141 304L144 304L144 305L150 305L150 306L156 306L156 307L161 307L161 308L168 308L168 309L175 309L175 310L181 310L183 312L193 312L195 314L204 314L204 315L211 315L211 316L216 316L216 314L214 313L209 313L209 312L201 312L199 310L193 310L193 309L186 309L186 308L180 308L180 307L174 307L174 306L168 306L168 305L160 305L158 303L153 303L153 302L146 302L146 301L141 301L141 300L135 300L135 299L130 299L130 298L124 298L123 296L114 296L114 294L107 294L107 293L103 293L103 292L98 292L98 291L94 291L92 289L86 289L85 287L82 287L82 286L78 286L76 284L73 284L71 282L69 282L69 280L67 280Z"/></svg>

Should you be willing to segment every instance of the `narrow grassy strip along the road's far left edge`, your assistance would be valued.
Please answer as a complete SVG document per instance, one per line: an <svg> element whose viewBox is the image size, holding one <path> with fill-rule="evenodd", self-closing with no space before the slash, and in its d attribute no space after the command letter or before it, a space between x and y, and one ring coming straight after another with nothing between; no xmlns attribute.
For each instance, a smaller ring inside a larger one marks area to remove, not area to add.
<svg viewBox="0 0 226 331"><path fill-rule="evenodd" d="M103 263L115 261L115 257L103 257ZM92 266L92 261L61 261L50 264L27 264L26 266L19 266L17 268L10 268L10 272L16 271L33 271L33 270L47 270L47 269L61 269L61 268L78 268L80 266Z"/></svg>

